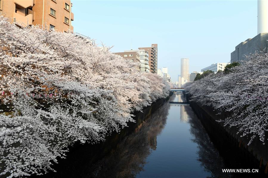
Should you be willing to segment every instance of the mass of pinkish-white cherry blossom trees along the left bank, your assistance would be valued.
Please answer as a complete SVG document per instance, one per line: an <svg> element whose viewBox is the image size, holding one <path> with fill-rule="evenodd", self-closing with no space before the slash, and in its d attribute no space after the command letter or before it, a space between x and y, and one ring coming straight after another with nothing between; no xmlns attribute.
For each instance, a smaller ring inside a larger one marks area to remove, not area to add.
<svg viewBox="0 0 268 178"><path fill-rule="evenodd" d="M72 33L0 15L0 176L44 174L75 142L103 141L167 97L156 74Z"/></svg>

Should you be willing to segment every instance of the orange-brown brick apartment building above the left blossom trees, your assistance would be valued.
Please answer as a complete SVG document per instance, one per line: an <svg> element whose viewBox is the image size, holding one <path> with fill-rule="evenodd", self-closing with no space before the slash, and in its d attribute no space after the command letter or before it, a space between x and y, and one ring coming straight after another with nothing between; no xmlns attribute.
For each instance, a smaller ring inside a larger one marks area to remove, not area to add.
<svg viewBox="0 0 268 178"><path fill-rule="evenodd" d="M73 32L70 0L0 0L0 12L27 25L46 25L48 29Z"/></svg>

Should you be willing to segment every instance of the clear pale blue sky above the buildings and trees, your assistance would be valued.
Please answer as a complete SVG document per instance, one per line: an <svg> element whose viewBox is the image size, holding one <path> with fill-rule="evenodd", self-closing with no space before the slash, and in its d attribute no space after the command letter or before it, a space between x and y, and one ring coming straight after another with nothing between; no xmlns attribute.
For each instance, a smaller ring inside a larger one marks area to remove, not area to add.
<svg viewBox="0 0 268 178"><path fill-rule="evenodd" d="M123 52L158 44L158 66L178 81L181 58L189 73L230 62L235 46L257 35L257 1L72 0L74 31Z"/></svg>

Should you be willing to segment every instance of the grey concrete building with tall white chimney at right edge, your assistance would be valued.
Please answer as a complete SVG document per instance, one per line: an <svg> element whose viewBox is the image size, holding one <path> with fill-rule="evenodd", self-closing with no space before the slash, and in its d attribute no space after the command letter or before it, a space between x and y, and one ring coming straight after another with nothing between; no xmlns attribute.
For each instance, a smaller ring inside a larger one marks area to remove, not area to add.
<svg viewBox="0 0 268 178"><path fill-rule="evenodd" d="M243 62L247 55L256 51L268 51L268 1L258 0L257 35L249 38L235 47L231 53L230 62Z"/></svg>

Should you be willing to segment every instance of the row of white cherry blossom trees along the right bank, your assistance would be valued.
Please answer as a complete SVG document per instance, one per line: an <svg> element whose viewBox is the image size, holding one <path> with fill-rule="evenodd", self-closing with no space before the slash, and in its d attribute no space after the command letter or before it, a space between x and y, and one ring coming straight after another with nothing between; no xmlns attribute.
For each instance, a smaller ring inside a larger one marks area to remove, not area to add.
<svg viewBox="0 0 268 178"><path fill-rule="evenodd" d="M268 126L268 54L256 51L246 56L240 66L227 74L209 75L185 86L191 100L211 105L231 115L219 120L229 127L236 126L241 137L267 139Z"/></svg>

